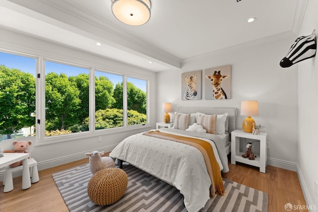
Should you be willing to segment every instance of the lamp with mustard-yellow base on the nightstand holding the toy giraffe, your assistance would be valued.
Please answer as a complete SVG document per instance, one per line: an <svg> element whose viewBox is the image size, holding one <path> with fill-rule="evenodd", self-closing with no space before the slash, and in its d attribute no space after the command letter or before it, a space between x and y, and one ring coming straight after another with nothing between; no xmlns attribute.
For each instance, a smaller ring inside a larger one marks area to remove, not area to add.
<svg viewBox="0 0 318 212"><path fill-rule="evenodd" d="M258 115L258 102L257 101L242 101L240 105L240 115L247 115L243 121L243 131L252 132L254 119L252 115Z"/></svg>

